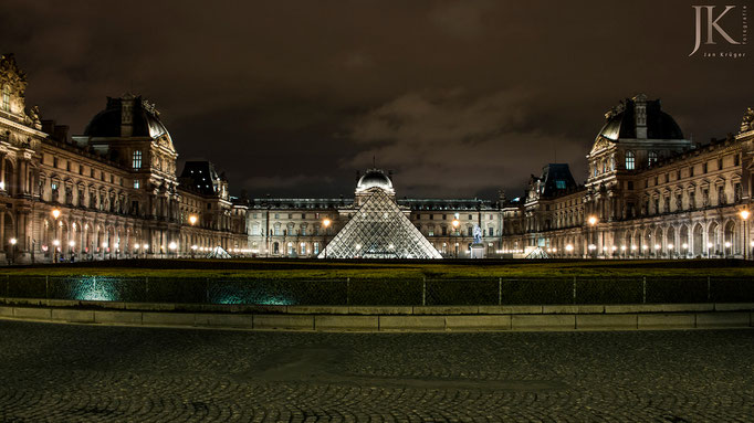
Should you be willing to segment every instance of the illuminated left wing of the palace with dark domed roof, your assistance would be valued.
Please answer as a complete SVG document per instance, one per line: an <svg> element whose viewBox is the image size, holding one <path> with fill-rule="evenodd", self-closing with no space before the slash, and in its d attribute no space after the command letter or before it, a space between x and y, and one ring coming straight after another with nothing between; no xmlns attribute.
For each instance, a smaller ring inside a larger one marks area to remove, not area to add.
<svg viewBox="0 0 754 423"><path fill-rule="evenodd" d="M51 262L248 250L247 205L230 198L210 163L192 165L208 172L207 180L177 177L178 154L154 105L129 94L108 98L83 135L69 137L67 127L41 120L36 107L27 109L25 87L14 57L3 55L0 257Z"/></svg>

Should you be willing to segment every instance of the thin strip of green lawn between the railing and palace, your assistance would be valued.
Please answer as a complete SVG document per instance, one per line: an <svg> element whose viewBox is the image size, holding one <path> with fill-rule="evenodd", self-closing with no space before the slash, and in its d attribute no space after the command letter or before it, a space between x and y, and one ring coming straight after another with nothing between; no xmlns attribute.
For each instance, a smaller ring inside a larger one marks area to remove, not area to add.
<svg viewBox="0 0 754 423"><path fill-rule="evenodd" d="M727 276L754 277L754 263L691 261L305 261L305 260L135 260L0 268L0 275L102 275L242 278L488 278L556 276Z"/></svg>

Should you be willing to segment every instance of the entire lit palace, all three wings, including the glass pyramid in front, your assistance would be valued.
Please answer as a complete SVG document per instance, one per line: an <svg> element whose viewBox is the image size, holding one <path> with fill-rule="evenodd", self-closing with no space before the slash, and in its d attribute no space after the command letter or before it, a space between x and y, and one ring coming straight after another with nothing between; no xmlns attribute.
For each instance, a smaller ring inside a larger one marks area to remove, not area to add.
<svg viewBox="0 0 754 423"><path fill-rule="evenodd" d="M754 112L735 135L687 139L657 99L605 114L589 172L566 163L509 199L408 199L390 172L353 197L238 199L209 161L178 152L159 112L107 98L82 135L27 107L27 78L0 57L0 260L272 256L751 257Z"/></svg>

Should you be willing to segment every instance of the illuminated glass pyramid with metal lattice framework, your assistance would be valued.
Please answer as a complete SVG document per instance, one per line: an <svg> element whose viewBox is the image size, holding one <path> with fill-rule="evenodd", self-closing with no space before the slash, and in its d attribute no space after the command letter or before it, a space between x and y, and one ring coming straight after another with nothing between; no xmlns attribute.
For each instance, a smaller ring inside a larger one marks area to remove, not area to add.
<svg viewBox="0 0 754 423"><path fill-rule="evenodd" d="M320 258L442 258L379 188L320 253Z"/></svg>

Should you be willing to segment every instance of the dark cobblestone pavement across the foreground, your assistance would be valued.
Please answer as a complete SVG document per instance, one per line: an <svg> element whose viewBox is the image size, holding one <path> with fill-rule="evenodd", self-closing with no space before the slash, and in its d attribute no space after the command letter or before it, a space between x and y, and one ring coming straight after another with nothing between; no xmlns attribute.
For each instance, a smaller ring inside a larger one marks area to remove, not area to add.
<svg viewBox="0 0 754 423"><path fill-rule="evenodd" d="M0 422L754 421L754 330L292 334L0 320Z"/></svg>

